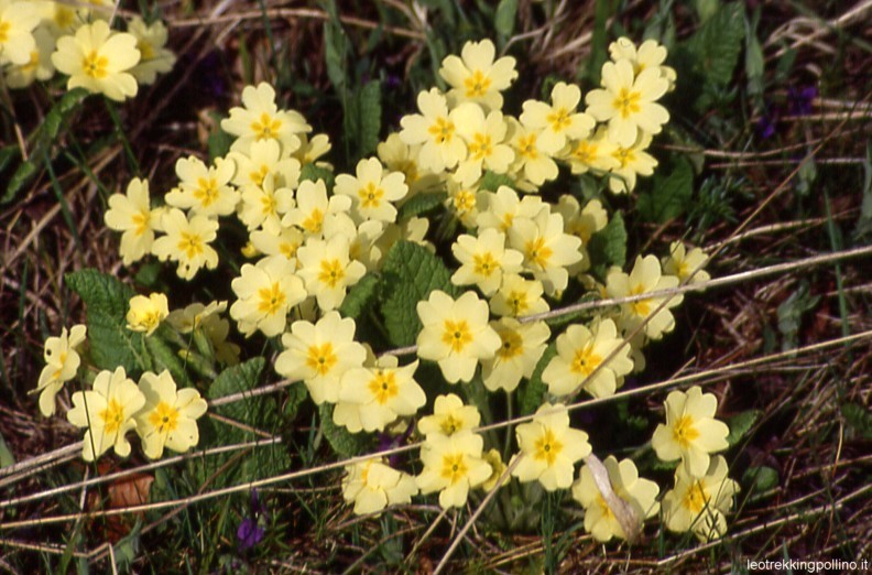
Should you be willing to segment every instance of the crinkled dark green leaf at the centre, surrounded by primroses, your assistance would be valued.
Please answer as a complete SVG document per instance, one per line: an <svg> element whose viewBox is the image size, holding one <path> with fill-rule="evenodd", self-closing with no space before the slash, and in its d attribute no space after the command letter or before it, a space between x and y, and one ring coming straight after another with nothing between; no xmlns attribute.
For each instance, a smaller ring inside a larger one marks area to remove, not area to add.
<svg viewBox="0 0 872 575"><path fill-rule="evenodd" d="M381 311L388 337L394 346L410 346L421 332L417 303L433 290L442 290L451 297L457 294L451 272L439 258L423 246L397 241L384 259Z"/></svg>

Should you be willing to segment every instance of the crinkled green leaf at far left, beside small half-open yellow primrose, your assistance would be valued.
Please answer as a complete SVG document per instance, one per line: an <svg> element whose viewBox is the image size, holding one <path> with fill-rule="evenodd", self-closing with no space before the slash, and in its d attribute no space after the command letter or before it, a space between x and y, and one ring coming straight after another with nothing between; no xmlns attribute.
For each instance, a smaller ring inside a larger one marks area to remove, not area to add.
<svg viewBox="0 0 872 575"><path fill-rule="evenodd" d="M85 302L95 365L109 370L122 366L128 373L148 369L151 362L142 352L142 335L127 328L126 315L133 290L94 269L67 273L65 279Z"/></svg>

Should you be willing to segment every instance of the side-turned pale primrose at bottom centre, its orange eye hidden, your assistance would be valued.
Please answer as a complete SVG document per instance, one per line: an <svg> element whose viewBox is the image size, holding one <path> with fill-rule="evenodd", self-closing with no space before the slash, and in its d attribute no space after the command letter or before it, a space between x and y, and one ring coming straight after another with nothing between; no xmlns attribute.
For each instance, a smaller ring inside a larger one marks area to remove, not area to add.
<svg viewBox="0 0 872 575"><path fill-rule="evenodd" d="M367 459L346 467L342 498L355 503L355 514L375 513L388 506L408 503L418 489L415 478L383 459Z"/></svg>

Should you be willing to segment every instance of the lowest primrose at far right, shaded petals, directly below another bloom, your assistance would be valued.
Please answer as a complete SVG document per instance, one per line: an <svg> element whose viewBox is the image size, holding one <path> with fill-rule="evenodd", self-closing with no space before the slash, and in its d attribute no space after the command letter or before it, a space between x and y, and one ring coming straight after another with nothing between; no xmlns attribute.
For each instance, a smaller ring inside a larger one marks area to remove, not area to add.
<svg viewBox="0 0 872 575"><path fill-rule="evenodd" d="M679 533L694 530L701 542L723 536L723 516L739 492L739 484L727 477L728 471L727 459L721 455L711 459L701 477L690 476L684 466L678 466L675 488L663 496L666 529Z"/></svg>

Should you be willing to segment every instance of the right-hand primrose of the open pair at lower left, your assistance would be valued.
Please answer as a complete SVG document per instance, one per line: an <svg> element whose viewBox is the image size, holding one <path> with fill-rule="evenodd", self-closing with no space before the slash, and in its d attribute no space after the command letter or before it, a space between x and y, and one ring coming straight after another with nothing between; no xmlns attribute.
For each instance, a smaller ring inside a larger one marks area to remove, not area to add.
<svg viewBox="0 0 872 575"><path fill-rule="evenodd" d="M139 389L145 404L137 413L137 434L150 459L160 459L164 447L185 453L199 443L197 419L206 413L206 400L194 388L176 390L173 376L146 371Z"/></svg>

